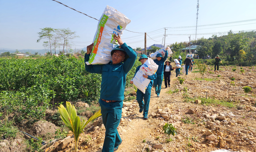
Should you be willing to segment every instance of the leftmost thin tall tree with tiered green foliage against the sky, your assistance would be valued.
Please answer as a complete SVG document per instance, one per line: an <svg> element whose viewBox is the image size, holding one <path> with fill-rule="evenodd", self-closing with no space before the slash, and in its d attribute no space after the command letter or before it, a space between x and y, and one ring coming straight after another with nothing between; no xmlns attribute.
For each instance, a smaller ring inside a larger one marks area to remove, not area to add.
<svg viewBox="0 0 256 152"><path fill-rule="evenodd" d="M37 34L39 34L39 39L37 40L37 42L40 42L41 39L47 39L47 41L44 41L43 46L44 47L50 47L50 52L51 52L51 39L53 36L53 32L54 29L50 28L50 27L45 27L45 28L40 28L41 32L38 32ZM49 42L49 44L48 44Z"/></svg>

